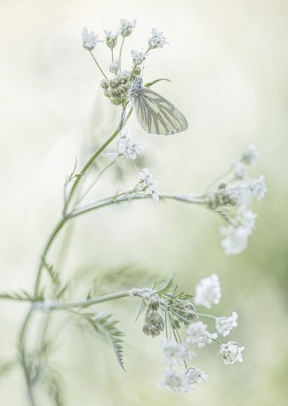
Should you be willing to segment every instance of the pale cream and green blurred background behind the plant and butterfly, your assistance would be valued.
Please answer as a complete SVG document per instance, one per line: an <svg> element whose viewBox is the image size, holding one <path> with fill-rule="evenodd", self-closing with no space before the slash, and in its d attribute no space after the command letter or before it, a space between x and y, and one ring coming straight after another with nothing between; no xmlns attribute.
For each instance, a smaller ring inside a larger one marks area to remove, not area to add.
<svg viewBox="0 0 288 406"><path fill-rule="evenodd" d="M230 367L216 357L217 346L198 351L197 367L209 381L177 395L157 388L164 369L159 339L143 336L141 321L134 324L136 301L99 306L114 313L126 332L126 374L98 337L81 334L72 322L59 335L66 317L61 314L48 336L57 336L53 362L65 381L67 405L286 405L287 1L2 0L0 8L1 292L31 289L75 157L117 122L117 108L107 103L100 74L81 46L83 27L103 38L103 28L114 32L120 18L135 18L136 30L124 48L127 68L131 48L145 48L152 27L169 41L151 52L144 78L171 79L153 89L181 109L189 129L162 137L143 132L135 117L128 124L131 137L145 145L143 164L162 192L201 191L251 144L261 151L254 174L263 173L268 185L266 198L254 206L258 220L249 248L238 256L223 253L217 216L181 203L124 204L75 221L61 263L63 275L73 275L79 288L74 298L95 275L127 267L135 269L136 279L176 273L189 292L200 278L217 273L223 298L214 314L237 311L239 327L228 339L240 341L245 351L244 363ZM95 50L103 67L108 51L104 44ZM134 172L127 174L131 182L138 169ZM111 190L107 183L114 182L112 190L122 187L121 179L105 179L98 195ZM58 258L63 238L65 233L51 258ZM86 282L77 282L79 275ZM115 277L107 290L117 289ZM9 360L27 306L0 305L0 359ZM33 339L32 334L31 345ZM38 395L39 405L49 405ZM27 405L19 367L0 377L0 404Z"/></svg>

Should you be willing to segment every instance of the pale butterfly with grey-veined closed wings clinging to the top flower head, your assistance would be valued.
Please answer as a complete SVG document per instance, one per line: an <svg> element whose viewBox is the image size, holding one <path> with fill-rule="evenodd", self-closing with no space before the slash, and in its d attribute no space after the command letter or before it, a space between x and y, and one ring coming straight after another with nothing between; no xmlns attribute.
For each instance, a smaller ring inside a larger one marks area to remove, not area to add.
<svg viewBox="0 0 288 406"><path fill-rule="evenodd" d="M143 87L140 77L133 81L129 98L144 131L168 136L188 129L188 122L181 111L155 91Z"/></svg>

